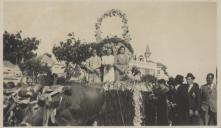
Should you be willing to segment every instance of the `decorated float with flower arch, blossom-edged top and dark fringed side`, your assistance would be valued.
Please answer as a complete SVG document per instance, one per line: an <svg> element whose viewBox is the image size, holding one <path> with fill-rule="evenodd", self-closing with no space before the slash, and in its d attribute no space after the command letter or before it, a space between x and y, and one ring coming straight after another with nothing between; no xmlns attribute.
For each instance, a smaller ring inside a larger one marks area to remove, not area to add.
<svg viewBox="0 0 221 128"><path fill-rule="evenodd" d="M102 31L100 29L102 21L108 17L119 17L122 19L123 25L121 28L123 32L121 38L117 36L102 38ZM96 41L102 44L101 51L104 51L107 47L111 47L114 55L116 55L119 47L124 46L126 53L133 59L134 50L130 44L131 37L127 22L126 14L118 9L109 10L97 19L95 37ZM103 83L102 87L105 90L105 110L99 119L98 125L154 125L154 107L151 106L150 100L153 94L152 87L156 82L156 78L148 74L136 78L131 73L133 72L132 68L130 68L128 74L125 74L123 81ZM139 69L137 71L139 72Z"/></svg>

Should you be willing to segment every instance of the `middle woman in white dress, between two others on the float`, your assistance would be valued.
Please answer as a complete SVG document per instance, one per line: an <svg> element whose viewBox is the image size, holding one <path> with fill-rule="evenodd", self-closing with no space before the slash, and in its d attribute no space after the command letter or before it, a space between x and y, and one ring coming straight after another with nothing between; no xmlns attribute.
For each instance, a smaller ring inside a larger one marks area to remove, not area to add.
<svg viewBox="0 0 221 128"><path fill-rule="evenodd" d="M103 82L114 81L114 56L112 55L113 51L111 48L107 48L107 55L102 56L102 66L103 70Z"/></svg>

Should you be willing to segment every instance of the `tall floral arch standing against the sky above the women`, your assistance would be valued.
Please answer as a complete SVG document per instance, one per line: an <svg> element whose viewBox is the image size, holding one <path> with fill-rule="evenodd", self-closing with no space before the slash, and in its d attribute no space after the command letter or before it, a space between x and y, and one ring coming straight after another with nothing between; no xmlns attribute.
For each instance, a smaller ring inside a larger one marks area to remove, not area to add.
<svg viewBox="0 0 221 128"><path fill-rule="evenodd" d="M123 29L122 36L126 42L129 42L131 38L129 35L129 27L127 24L128 22L127 15L119 9L111 9L107 11L106 13L104 13L103 15L101 15L101 17L97 19L97 23L95 24L95 37L96 37L97 42L100 42L102 40L102 37L101 37L102 31L100 27L101 27L103 19L107 17L112 17L112 16L119 16L122 19L122 23L123 23L121 27Z"/></svg>

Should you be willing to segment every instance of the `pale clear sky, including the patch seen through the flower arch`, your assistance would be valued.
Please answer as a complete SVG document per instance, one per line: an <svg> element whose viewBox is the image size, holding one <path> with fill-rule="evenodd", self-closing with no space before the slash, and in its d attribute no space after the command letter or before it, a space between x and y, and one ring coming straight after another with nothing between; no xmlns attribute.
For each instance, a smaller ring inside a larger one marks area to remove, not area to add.
<svg viewBox="0 0 221 128"><path fill-rule="evenodd" d="M110 9L127 14L131 45L142 54L149 44L151 59L168 67L170 75L192 72L205 83L217 63L216 3L213 2L4 2L4 30L22 30L23 37L37 37L38 54L52 47L69 32L85 42L95 41L95 23ZM122 33L121 19L104 19L102 37Z"/></svg>

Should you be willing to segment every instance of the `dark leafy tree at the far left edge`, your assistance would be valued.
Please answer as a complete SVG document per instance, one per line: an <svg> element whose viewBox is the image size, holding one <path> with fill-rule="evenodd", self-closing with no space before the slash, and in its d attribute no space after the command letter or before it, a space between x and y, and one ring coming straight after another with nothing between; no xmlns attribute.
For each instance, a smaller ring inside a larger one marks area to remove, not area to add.
<svg viewBox="0 0 221 128"><path fill-rule="evenodd" d="M8 60L13 64L21 64L22 62L36 56L36 51L40 41L36 37L21 36L22 31L17 33L3 34L3 60Z"/></svg>

